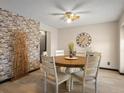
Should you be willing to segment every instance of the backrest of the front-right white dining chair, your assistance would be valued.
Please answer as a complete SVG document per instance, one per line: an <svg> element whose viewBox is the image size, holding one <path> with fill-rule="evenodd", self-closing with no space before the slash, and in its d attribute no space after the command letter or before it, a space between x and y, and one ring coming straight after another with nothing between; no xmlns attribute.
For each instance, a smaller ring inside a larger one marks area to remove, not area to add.
<svg viewBox="0 0 124 93"><path fill-rule="evenodd" d="M87 52L87 63L85 65L85 76L97 77L98 68L101 60L101 53Z"/></svg>

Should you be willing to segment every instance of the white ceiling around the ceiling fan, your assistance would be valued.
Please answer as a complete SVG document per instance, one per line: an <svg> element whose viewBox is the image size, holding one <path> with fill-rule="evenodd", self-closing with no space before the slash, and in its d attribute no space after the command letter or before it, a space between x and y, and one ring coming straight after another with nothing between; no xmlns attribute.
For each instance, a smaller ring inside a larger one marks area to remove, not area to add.
<svg viewBox="0 0 124 93"><path fill-rule="evenodd" d="M81 14L80 19L72 24L61 20L62 16L52 16L51 13L62 13L57 8L61 6L64 11L72 10L90 11ZM124 9L124 0L0 0L0 7L39 20L40 22L56 28L80 26L117 21Z"/></svg>

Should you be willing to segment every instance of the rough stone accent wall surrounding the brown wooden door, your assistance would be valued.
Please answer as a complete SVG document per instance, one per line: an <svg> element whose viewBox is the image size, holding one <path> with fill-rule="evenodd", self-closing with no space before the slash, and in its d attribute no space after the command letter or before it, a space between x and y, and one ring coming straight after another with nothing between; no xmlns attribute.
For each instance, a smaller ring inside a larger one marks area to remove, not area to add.
<svg viewBox="0 0 124 93"><path fill-rule="evenodd" d="M12 77L12 38L15 31L27 33L29 71L39 68L40 24L0 8L0 81Z"/></svg>

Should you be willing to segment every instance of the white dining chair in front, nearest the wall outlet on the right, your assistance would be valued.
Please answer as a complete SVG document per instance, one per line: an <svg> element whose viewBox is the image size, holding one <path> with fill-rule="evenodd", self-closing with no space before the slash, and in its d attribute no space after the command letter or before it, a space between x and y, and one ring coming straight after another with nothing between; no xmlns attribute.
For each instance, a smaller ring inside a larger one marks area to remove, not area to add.
<svg viewBox="0 0 124 93"><path fill-rule="evenodd" d="M77 79L83 82L83 93L85 93L85 83L87 81L95 81L95 93L97 93L97 76L98 69L101 60L101 53L98 52L87 52L86 53L87 62L84 67L84 71L78 73L73 73L72 79Z"/></svg>

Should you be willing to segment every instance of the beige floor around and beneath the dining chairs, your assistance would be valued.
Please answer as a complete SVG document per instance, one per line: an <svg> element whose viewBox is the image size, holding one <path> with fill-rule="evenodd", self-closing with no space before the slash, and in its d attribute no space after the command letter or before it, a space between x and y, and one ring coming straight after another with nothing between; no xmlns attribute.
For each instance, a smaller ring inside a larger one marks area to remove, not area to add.
<svg viewBox="0 0 124 93"><path fill-rule="evenodd" d="M124 75L119 75L116 71L99 70L98 93L124 93ZM48 84L47 93L55 93L54 86ZM43 93L43 80L40 71L35 71L29 75L16 80L0 84L0 93ZM59 87L59 93L69 93L65 85ZM82 86L74 84L74 89L70 93L82 93ZM94 85L86 85L86 93L94 93Z"/></svg>

